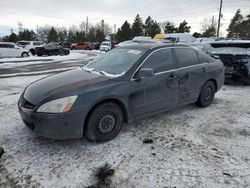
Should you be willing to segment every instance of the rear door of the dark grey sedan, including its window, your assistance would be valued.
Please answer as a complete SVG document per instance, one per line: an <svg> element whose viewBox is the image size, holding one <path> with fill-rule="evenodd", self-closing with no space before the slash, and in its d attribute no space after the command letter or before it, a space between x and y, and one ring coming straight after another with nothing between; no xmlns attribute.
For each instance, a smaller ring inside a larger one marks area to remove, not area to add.
<svg viewBox="0 0 250 188"><path fill-rule="evenodd" d="M207 64L200 63L197 52L192 48L174 48L174 51L180 85L179 103L195 102L204 84Z"/></svg>

